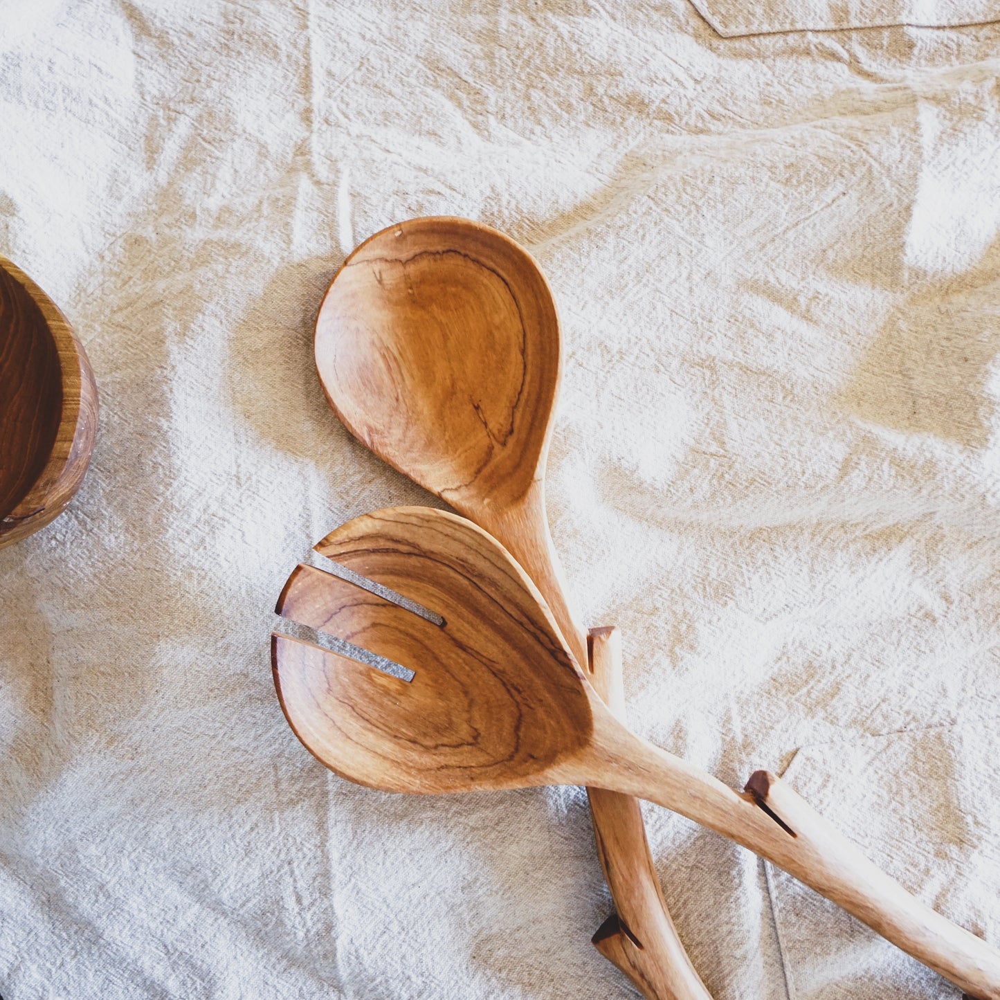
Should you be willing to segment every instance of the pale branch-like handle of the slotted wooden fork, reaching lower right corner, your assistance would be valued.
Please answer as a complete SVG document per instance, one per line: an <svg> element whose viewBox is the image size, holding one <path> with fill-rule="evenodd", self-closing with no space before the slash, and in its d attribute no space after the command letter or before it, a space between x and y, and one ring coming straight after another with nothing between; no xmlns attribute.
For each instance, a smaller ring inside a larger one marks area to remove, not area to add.
<svg viewBox="0 0 1000 1000"><path fill-rule="evenodd" d="M742 844L970 997L1000 1000L1000 951L911 896L789 785L757 771L741 795L645 740L632 740L633 752L622 756L629 741L617 734L610 759L600 762L598 780L611 779L618 791L682 813ZM588 774L588 783L597 777Z"/></svg>

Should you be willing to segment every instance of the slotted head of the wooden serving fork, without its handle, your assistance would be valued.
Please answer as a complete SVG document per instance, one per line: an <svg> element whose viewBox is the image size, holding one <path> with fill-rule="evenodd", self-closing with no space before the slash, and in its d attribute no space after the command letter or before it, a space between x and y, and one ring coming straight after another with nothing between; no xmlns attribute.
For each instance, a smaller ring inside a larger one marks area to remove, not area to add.
<svg viewBox="0 0 1000 1000"><path fill-rule="evenodd" d="M316 549L376 586L299 566L278 613L413 671L407 681L273 635L285 716L327 767L390 791L523 787L546 783L547 770L588 742L586 685L548 608L471 522L391 508L349 521ZM440 617L400 606L385 588Z"/></svg>

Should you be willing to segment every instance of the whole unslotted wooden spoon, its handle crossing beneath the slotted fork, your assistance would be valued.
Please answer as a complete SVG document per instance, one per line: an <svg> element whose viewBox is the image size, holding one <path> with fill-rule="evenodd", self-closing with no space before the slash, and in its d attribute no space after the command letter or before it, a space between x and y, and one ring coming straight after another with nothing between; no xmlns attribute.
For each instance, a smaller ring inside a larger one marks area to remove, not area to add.
<svg viewBox="0 0 1000 1000"><path fill-rule="evenodd" d="M497 538L588 670L545 516L560 353L538 265L467 219L412 219L376 233L337 272L316 320L316 367L347 429ZM615 701L620 661L601 664L590 680ZM623 698L615 705L624 712ZM648 1000L711 1000L667 912L639 803L596 789L590 807L617 910L595 946Z"/></svg>

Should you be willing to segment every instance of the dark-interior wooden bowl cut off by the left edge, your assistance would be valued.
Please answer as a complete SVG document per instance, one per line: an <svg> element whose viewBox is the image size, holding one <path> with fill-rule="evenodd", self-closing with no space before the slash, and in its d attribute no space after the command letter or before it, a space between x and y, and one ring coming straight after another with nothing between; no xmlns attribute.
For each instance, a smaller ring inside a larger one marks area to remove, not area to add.
<svg viewBox="0 0 1000 1000"><path fill-rule="evenodd" d="M52 300L0 257L0 548L62 513L96 433L83 347Z"/></svg>

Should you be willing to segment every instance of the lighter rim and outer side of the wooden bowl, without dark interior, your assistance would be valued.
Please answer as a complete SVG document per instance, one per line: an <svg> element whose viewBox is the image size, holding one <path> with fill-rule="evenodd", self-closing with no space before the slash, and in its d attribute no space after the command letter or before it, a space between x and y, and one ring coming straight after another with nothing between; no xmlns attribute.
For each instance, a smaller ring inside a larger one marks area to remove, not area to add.
<svg viewBox="0 0 1000 1000"><path fill-rule="evenodd" d="M65 508L79 488L90 462L96 430L91 421L84 419L84 404L87 396L92 396L96 416L97 386L86 351L59 307L12 260L0 255L0 267L21 285L41 311L59 358L62 388L62 413L55 442L38 478L13 509L0 519L0 546L3 546L48 524ZM70 442L68 447L61 444L65 441ZM76 462L82 463L82 468L77 481L68 484L67 495L63 476L68 467ZM50 506L53 501L55 508Z"/></svg>

